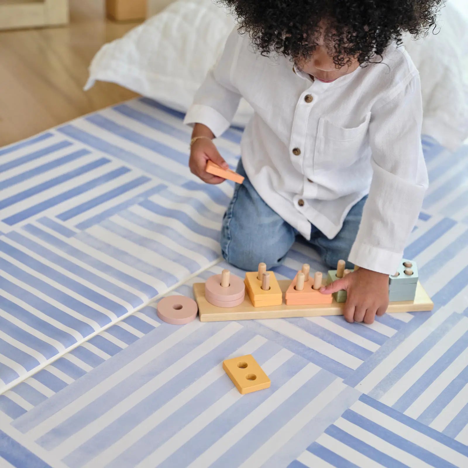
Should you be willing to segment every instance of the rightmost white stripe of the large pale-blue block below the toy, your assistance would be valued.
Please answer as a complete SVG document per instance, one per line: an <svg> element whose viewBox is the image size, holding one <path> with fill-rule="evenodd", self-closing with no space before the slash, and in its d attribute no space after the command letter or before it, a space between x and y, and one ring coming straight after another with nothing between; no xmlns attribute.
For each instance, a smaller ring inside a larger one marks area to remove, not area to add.
<svg viewBox="0 0 468 468"><path fill-rule="evenodd" d="M346 388L341 379L333 382L317 395L311 402L292 417L276 434L260 446L239 468L259 468L275 456L298 432L302 431L322 409ZM268 465L267 465L268 466Z"/></svg>

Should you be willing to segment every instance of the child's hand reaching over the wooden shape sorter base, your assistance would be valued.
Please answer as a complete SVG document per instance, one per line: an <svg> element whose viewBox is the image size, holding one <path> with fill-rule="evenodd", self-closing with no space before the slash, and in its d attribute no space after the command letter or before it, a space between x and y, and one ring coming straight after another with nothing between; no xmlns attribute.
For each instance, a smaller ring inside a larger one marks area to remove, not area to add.
<svg viewBox="0 0 468 468"><path fill-rule="evenodd" d="M359 268L321 288L320 292L330 294L340 289L347 291L343 314L348 322L373 323L375 314L385 314L388 307L388 275Z"/></svg>

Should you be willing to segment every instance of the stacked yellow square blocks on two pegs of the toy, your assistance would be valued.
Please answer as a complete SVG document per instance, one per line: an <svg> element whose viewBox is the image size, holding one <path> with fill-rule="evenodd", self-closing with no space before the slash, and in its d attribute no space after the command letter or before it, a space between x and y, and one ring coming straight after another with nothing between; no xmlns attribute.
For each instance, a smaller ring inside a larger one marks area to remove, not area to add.
<svg viewBox="0 0 468 468"><path fill-rule="evenodd" d="M245 289L254 307L279 306L283 293L273 271L266 271L265 263L258 265L258 271L245 274Z"/></svg>

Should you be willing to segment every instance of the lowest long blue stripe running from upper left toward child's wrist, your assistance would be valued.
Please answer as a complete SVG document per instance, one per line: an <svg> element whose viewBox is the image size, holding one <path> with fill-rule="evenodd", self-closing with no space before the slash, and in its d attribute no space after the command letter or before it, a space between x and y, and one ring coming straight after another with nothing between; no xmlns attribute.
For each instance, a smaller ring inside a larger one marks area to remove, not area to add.
<svg viewBox="0 0 468 468"><path fill-rule="evenodd" d="M171 183L181 184L184 180L186 180L182 173L173 172L167 168L164 168L161 165L154 164L150 161L147 161L145 158L139 156L138 154L131 153L130 151L126 151L119 146L112 145L108 141L97 138L87 132L83 132L82 130L73 127L73 125L64 125L57 129L59 132L64 133L65 135L69 136L70 138L76 139L81 141L85 145L91 146L98 151L102 151L103 153L110 154L115 158L120 159L121 161L126 162L128 165L141 169L146 174L151 174L152 176L157 177L158 179L162 179ZM182 169L182 168L181 168ZM188 168L183 170L183 173L187 173L189 175Z"/></svg>

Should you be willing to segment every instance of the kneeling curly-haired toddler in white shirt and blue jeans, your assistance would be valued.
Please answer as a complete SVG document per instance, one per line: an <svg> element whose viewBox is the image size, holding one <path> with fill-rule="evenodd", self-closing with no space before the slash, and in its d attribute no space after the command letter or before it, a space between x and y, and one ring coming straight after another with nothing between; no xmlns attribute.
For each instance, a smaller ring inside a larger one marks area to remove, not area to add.
<svg viewBox="0 0 468 468"><path fill-rule="evenodd" d="M346 275L322 292L348 292L344 316L372 323L388 306L427 188L418 72L399 47L424 34L443 0L223 0L239 25L198 90L190 169L206 183L212 139L244 97L252 106L236 184L223 219L227 262L278 266L302 235Z"/></svg>

